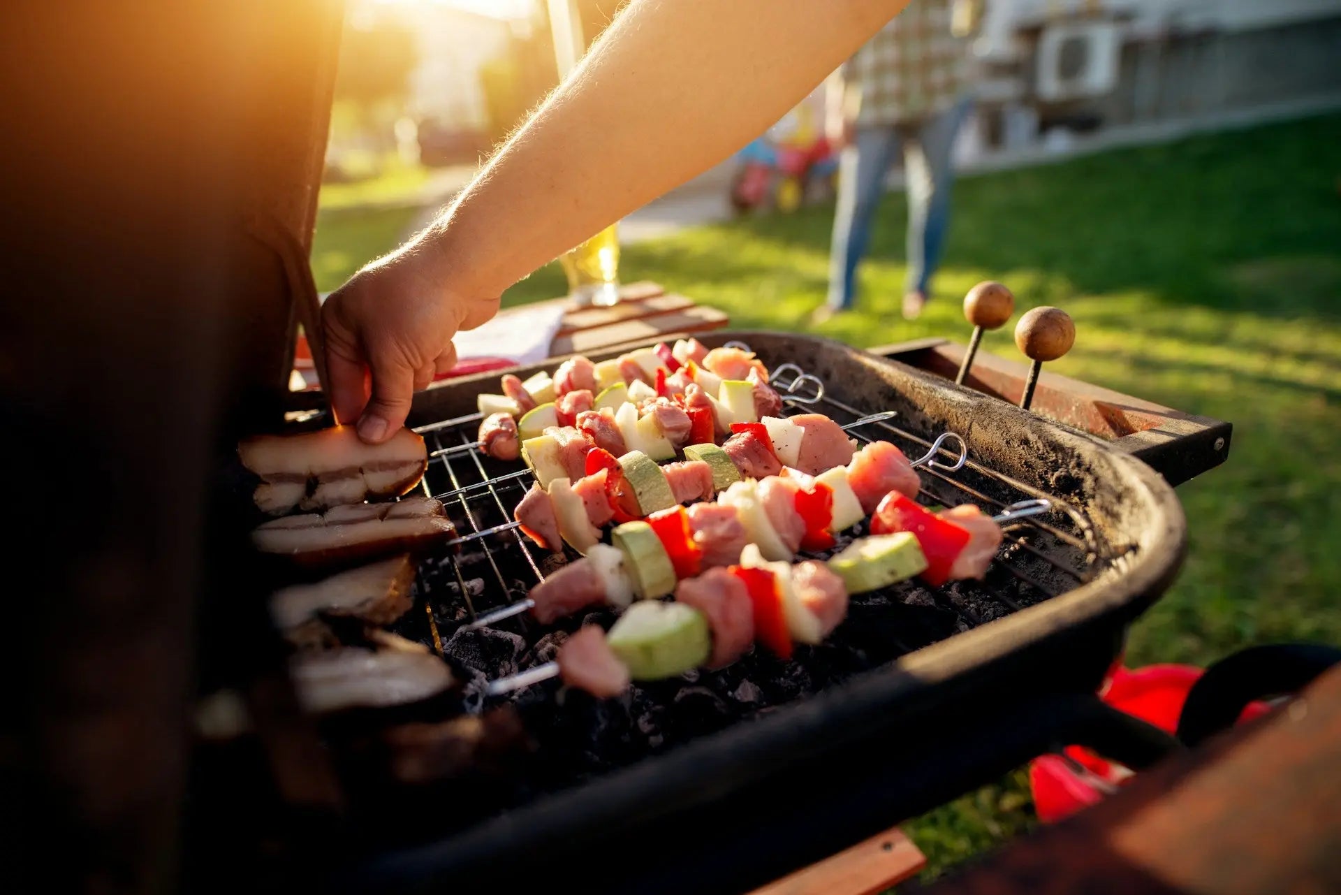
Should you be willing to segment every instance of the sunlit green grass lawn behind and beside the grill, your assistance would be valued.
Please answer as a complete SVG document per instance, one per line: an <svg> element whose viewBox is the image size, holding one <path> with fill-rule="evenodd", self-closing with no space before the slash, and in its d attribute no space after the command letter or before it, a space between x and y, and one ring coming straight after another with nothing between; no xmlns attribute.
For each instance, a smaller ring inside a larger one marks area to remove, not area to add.
<svg viewBox="0 0 1341 895"><path fill-rule="evenodd" d="M959 299L999 279L1016 311L1058 305L1074 317L1058 373L1235 424L1228 463L1179 488L1191 554L1132 631L1129 664L1204 664L1289 639L1341 644L1338 148L1341 115L1329 115L966 178L935 299L913 323L898 315L905 212L893 196L858 310L818 330L862 346L967 338ZM736 326L806 330L825 293L831 212L685 231L628 247L621 268L721 307ZM392 247L392 224L323 215L322 287ZM551 266L506 301L562 291ZM1015 356L1010 327L984 349ZM939 872L1031 823L1016 772L908 829Z"/></svg>

